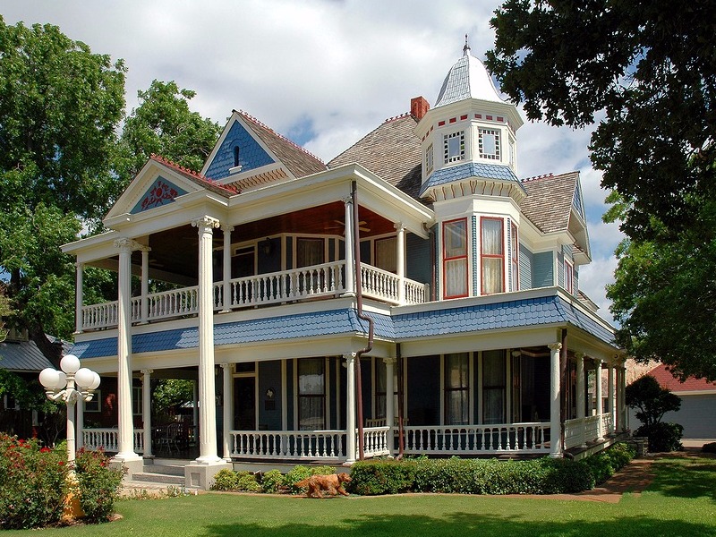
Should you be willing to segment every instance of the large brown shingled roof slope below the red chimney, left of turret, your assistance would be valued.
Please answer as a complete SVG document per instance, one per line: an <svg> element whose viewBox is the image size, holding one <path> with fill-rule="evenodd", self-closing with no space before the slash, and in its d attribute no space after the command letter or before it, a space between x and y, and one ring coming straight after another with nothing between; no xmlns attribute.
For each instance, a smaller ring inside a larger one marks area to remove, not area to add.
<svg viewBox="0 0 716 537"><path fill-rule="evenodd" d="M415 135L418 124L405 114L386 120L362 140L328 162L328 167L360 164L388 183L419 199L422 153Z"/></svg>

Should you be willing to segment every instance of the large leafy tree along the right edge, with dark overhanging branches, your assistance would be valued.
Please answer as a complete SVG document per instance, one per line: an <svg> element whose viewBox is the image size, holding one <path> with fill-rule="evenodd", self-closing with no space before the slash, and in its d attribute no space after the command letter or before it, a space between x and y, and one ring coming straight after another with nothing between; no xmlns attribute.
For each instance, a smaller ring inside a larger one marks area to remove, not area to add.
<svg viewBox="0 0 716 537"><path fill-rule="evenodd" d="M716 379L716 10L634 0L507 0L487 66L530 119L592 133L628 239L608 296L618 343Z"/></svg>

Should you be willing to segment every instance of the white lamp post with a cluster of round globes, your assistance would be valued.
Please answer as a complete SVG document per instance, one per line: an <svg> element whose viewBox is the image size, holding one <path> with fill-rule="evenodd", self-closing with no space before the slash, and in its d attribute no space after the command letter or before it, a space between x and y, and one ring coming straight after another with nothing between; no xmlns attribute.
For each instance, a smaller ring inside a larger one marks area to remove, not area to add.
<svg viewBox="0 0 716 537"><path fill-rule="evenodd" d="M91 401L94 390L99 387L99 375L86 367L80 367L80 359L65 354L60 361L62 371L48 367L39 373L39 382L45 388L47 398L62 399L67 405L67 464L74 471L74 405L78 400ZM77 388L75 388L75 385Z"/></svg>

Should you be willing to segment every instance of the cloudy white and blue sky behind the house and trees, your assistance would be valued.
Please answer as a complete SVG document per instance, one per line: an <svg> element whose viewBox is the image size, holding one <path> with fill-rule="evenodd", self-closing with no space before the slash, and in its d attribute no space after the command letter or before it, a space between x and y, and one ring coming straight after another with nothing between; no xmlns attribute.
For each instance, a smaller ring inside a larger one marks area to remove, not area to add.
<svg viewBox="0 0 716 537"><path fill-rule="evenodd" d="M410 99L438 97L465 34L481 60L494 44L495 0L0 0L5 23L50 23L92 52L124 59L127 114L151 81L196 91L193 111L225 124L244 112L324 161ZM523 117L526 119L525 115ZM578 170L592 263L580 288L611 320L604 286L623 238L601 222L601 173L590 129L526 122L517 132L520 178Z"/></svg>

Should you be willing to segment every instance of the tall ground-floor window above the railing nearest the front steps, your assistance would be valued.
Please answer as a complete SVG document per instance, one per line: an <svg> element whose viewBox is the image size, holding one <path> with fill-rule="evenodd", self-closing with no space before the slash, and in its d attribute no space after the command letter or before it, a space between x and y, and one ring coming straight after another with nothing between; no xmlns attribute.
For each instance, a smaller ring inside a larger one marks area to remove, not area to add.
<svg viewBox="0 0 716 537"><path fill-rule="evenodd" d="M326 362L323 358L298 361L298 429L326 428Z"/></svg>

